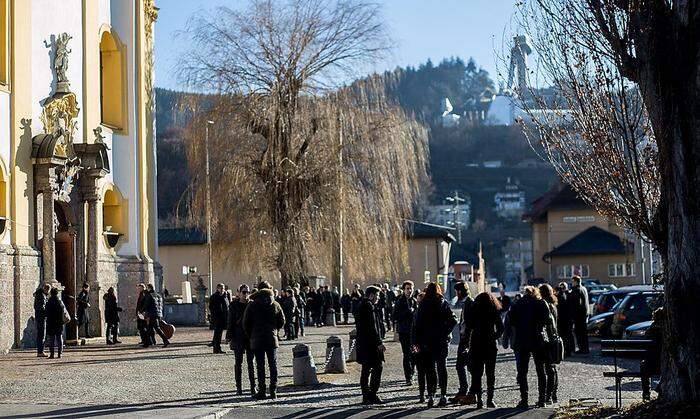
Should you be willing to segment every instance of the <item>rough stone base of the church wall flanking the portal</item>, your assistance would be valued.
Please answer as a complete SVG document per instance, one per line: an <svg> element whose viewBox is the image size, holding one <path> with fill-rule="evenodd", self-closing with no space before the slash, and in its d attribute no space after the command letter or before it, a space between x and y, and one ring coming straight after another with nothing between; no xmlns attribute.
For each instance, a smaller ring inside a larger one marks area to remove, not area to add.
<svg viewBox="0 0 700 419"><path fill-rule="evenodd" d="M120 313L121 334L136 333L137 286L162 283L160 265L150 259L100 255L98 282L91 285L90 331L104 336L104 299L114 287ZM29 246L0 245L0 353L12 348L36 346L34 292L42 283L41 252ZM82 284L77 284L80 290ZM72 324L72 323L71 323ZM75 326L73 326L75 327Z"/></svg>

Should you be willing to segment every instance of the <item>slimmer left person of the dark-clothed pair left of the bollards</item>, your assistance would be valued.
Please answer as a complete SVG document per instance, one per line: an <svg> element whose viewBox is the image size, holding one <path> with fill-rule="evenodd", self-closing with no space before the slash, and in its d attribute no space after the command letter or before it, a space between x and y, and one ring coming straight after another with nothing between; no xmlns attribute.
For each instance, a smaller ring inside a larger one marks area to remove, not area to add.
<svg viewBox="0 0 700 419"><path fill-rule="evenodd" d="M250 395L255 396L255 363L253 351L250 349L250 339L243 330L243 315L250 302L250 288L243 284L238 287L236 298L231 301L228 309L228 329L226 340L229 341L234 353L234 375L236 380L236 393L243 395L243 356L246 357L248 367L248 380L250 381Z"/></svg>

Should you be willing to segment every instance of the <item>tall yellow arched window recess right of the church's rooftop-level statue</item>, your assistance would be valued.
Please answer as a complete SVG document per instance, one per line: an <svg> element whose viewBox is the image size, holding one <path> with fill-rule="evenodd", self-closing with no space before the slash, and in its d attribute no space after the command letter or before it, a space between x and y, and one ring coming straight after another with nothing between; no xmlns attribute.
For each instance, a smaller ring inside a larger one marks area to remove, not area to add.
<svg viewBox="0 0 700 419"><path fill-rule="evenodd" d="M111 32L105 31L100 40L100 110L102 124L116 130L126 125L124 70L124 48Z"/></svg>

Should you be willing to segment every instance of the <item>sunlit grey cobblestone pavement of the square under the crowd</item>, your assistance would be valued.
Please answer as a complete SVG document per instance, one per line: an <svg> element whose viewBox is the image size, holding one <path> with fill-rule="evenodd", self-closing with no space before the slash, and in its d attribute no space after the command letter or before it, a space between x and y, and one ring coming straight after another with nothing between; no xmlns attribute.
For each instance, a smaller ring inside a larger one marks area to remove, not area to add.
<svg viewBox="0 0 700 419"><path fill-rule="evenodd" d="M496 404L499 409L472 412L471 408L431 409L418 405L417 388L406 387L401 368L401 348L388 341L380 396L381 409L359 405L359 365L348 364L346 374L323 374L326 338L343 339L347 351L352 326L307 328L307 336L296 342L282 342L279 351L278 399L255 402L247 395L236 396L233 383L233 356L212 354L207 347L207 329L178 330L168 348L141 349L137 338L125 337L124 344L89 344L68 348L62 359L37 359L32 351L14 351L0 356L0 416L14 417L96 417L107 414L126 416L200 417L207 415L247 417L461 417L488 413L489 417L513 416L518 401L515 361L512 351L498 354ZM391 336L391 335L388 335ZM313 388L293 387L291 348L298 342L310 346L320 384ZM597 346L590 356L573 357L559 369L559 400L593 398L614 404L613 383L603 378L611 369L602 360ZM449 387L454 392L454 352L448 359ZM347 353L346 353L347 355ZM534 370L534 366L531 365ZM245 371L243 374L246 377ZM536 399L534 371L530 374L531 399ZM623 397L641 397L639 383L626 383ZM523 412L520 412L521 414ZM530 417L543 417L551 410L532 409ZM480 416L481 417L481 416Z"/></svg>

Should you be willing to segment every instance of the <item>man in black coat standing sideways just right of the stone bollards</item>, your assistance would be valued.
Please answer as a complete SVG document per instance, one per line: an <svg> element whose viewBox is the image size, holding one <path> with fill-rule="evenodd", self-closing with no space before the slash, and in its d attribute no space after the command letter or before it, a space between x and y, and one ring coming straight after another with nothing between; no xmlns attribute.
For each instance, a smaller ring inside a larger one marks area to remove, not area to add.
<svg viewBox="0 0 700 419"><path fill-rule="evenodd" d="M382 363L386 351L382 343L375 309L380 292L377 286L367 287L355 317L357 330L355 348L357 363L362 366L360 388L362 389L362 404L364 405L383 403L377 395L382 381Z"/></svg>

